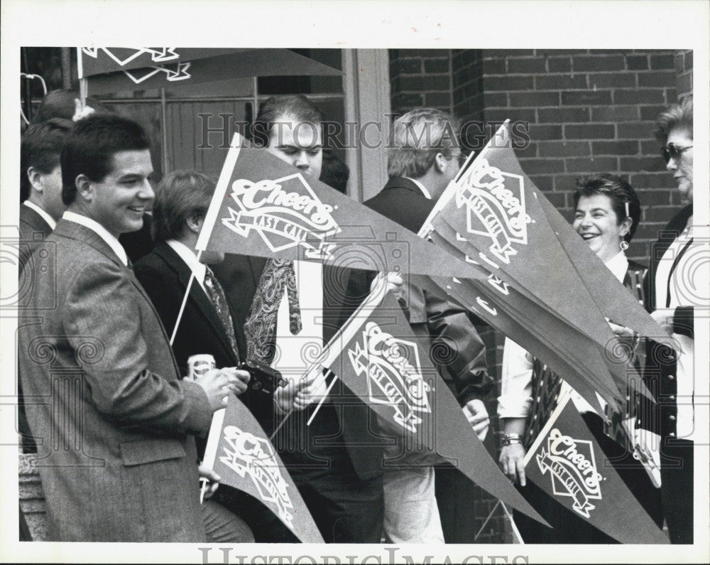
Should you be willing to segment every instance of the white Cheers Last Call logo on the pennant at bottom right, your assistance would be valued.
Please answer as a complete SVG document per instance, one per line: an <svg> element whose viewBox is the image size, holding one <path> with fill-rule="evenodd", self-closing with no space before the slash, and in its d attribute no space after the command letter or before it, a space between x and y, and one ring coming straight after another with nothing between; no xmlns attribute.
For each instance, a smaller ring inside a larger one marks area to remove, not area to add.
<svg viewBox="0 0 710 565"><path fill-rule="evenodd" d="M589 518L594 505L589 500L601 500L601 481L597 472L591 441L565 436L557 428L547 437L547 451L535 456L540 472L550 471L552 492L572 497L572 509Z"/></svg>

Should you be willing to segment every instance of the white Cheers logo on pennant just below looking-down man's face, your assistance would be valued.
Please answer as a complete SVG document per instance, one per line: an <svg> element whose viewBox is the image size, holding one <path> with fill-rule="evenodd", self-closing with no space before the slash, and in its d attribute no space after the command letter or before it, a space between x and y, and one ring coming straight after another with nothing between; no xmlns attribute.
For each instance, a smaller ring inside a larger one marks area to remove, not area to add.
<svg viewBox="0 0 710 565"><path fill-rule="evenodd" d="M231 190L236 209L228 206L229 217L222 218L230 230L244 237L254 230L272 252L300 245L309 259L331 257L334 244L326 239L340 231L334 207L322 203L300 173L256 183L241 178Z"/></svg>

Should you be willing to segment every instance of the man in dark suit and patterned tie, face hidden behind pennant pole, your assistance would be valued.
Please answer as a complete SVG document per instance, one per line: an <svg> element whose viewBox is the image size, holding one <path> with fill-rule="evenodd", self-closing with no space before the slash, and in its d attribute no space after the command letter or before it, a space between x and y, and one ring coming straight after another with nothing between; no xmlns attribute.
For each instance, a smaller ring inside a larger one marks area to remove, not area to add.
<svg viewBox="0 0 710 565"><path fill-rule="evenodd" d="M190 294L173 340L175 360L183 375L187 374L187 360L192 355L212 355L217 367L236 367L246 358L243 324L239 323L226 301L222 304L219 295L224 296L224 293L209 267L222 262L224 254L203 251L199 261L195 254L197 237L214 195L214 181L196 171L173 171L160 181L157 192L153 204L155 248L136 263L133 269L136 278L151 297L170 335L190 285ZM191 276L194 276L192 283ZM266 426L270 426L273 395L266 394L263 389L247 389L248 372L237 371L236 375L242 383L243 394L239 398L259 421L266 421ZM202 451L204 444L198 441L200 456ZM246 537L231 541L297 542L272 512L239 490L222 485L212 502L219 502L239 515L239 522L243 521L244 526L242 532L249 532Z"/></svg>

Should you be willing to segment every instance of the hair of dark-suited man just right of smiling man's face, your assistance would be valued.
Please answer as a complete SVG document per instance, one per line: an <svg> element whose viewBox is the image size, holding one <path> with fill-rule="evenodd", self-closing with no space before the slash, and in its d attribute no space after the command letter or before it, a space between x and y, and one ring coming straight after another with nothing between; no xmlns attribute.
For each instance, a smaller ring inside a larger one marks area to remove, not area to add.
<svg viewBox="0 0 710 565"><path fill-rule="evenodd" d="M214 188L212 178L190 169L165 175L153 203L151 233L155 243L179 240L189 217L204 218Z"/></svg>

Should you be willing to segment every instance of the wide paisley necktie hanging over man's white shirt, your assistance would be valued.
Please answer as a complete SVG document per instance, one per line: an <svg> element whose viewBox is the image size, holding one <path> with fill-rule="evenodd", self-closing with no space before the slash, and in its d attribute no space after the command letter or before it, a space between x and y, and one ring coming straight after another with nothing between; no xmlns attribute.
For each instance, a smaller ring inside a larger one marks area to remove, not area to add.
<svg viewBox="0 0 710 565"><path fill-rule="evenodd" d="M276 353L276 320L283 291L288 296L289 328L293 335L300 333L301 310L296 291L293 261L269 259L251 302L251 313L244 324L247 358L271 365Z"/></svg>

